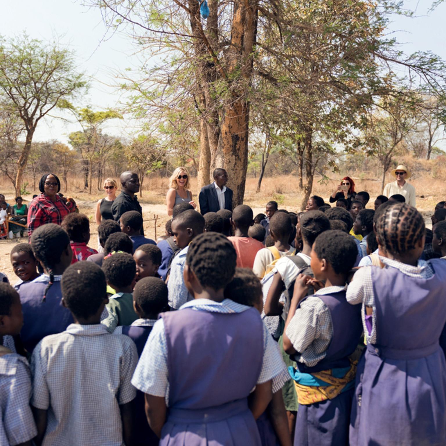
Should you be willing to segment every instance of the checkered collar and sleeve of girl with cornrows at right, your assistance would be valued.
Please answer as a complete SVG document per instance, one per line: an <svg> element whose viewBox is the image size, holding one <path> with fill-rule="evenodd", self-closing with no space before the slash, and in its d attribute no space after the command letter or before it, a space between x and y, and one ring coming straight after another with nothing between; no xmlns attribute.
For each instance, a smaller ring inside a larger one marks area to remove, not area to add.
<svg viewBox="0 0 446 446"><path fill-rule="evenodd" d="M412 266L405 263L398 262L396 260L388 259L387 257L381 257L381 262L389 268L396 268L404 273L408 277L418 277L422 279L429 279L434 275L434 269L432 266L424 260L418 261L418 266ZM367 336L367 343L376 343L376 308L375 308L375 292L373 290L372 281L372 268L379 268L379 266L364 266L359 268L353 276L353 280L350 282L347 288L347 302L352 305L362 303L361 318L363 321L364 333ZM372 308L372 332L368 334L367 326L365 323L366 309L365 307Z"/></svg>

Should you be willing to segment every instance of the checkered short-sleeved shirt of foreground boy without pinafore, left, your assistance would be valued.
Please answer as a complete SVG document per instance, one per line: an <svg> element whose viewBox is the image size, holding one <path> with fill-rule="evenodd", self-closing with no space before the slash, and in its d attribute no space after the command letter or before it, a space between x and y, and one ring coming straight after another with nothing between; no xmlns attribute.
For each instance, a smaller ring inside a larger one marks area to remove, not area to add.
<svg viewBox="0 0 446 446"><path fill-rule="evenodd" d="M102 324L70 324L33 351L31 404L48 410L45 446L121 446L120 405L133 400L138 360L128 336Z"/></svg>

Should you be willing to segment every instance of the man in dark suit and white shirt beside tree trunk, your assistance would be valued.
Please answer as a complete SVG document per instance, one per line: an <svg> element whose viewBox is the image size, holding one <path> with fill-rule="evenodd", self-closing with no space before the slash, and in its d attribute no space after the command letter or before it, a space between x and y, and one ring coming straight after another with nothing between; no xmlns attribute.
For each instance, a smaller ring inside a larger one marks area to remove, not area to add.
<svg viewBox="0 0 446 446"><path fill-rule="evenodd" d="M198 201L202 215L208 212L217 212L220 209L232 211L232 190L226 187L227 172L225 169L215 169L214 182L202 187Z"/></svg>

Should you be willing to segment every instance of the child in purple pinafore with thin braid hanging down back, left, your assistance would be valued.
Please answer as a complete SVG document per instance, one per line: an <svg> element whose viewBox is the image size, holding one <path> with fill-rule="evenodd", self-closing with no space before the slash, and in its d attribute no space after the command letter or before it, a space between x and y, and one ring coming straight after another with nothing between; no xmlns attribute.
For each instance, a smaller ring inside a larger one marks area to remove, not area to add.
<svg viewBox="0 0 446 446"><path fill-rule="evenodd" d="M24 320L21 339L29 352L44 336L60 333L73 322L70 311L61 304L60 288L62 273L73 256L70 237L59 225L47 223L33 231L31 248L44 274L19 290Z"/></svg>

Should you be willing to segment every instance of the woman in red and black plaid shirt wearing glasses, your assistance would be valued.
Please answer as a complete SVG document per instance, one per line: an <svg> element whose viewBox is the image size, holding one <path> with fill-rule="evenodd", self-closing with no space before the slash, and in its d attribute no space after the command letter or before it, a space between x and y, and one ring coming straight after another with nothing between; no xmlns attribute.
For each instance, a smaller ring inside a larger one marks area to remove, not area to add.
<svg viewBox="0 0 446 446"><path fill-rule="evenodd" d="M45 173L39 182L40 195L29 204L28 208L28 237L39 226L46 223L60 225L70 210L62 197L58 195L60 191L60 180L54 173Z"/></svg>

